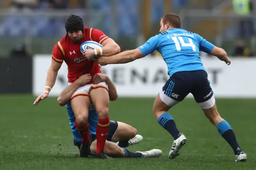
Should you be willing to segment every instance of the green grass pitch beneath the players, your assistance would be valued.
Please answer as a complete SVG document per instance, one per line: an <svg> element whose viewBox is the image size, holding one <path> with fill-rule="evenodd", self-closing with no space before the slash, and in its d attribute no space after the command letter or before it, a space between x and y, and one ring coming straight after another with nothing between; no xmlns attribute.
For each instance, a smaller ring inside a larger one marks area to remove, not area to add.
<svg viewBox="0 0 256 170"><path fill-rule="evenodd" d="M137 128L144 140L131 151L157 148L160 158L79 158L73 145L65 107L56 98L33 106L30 95L0 96L0 170L253 170L256 169L256 99L216 99L218 111L234 129L247 162L234 162L228 143L210 124L193 99L185 99L169 113L187 144L175 160L168 158L173 138L154 119L152 98L119 98L110 104L110 119Z"/></svg>

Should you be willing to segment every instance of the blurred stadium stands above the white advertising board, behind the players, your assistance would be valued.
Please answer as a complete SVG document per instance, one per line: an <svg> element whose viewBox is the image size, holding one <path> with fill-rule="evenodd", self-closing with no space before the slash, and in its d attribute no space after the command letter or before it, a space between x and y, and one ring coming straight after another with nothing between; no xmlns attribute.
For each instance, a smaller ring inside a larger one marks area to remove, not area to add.
<svg viewBox="0 0 256 170"><path fill-rule="evenodd" d="M86 26L102 30L122 50L133 49L158 33L161 16L175 12L180 14L184 29L224 47L229 55L248 56L256 52L255 7L250 8L250 2L254 1L1 0L1 55L10 55L20 44L31 54L51 53L66 33L64 21L69 14L82 16ZM244 46L244 53L235 52L238 45Z"/></svg>

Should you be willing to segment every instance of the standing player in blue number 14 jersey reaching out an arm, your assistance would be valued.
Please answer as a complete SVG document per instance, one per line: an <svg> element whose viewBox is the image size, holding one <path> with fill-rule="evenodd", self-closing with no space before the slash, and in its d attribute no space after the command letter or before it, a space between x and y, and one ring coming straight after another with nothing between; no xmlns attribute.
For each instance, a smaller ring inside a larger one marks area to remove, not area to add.
<svg viewBox="0 0 256 170"><path fill-rule="evenodd" d="M158 123L174 137L169 158L176 158L179 155L179 150L186 144L187 139L179 132L167 111L192 93L206 117L234 150L236 162L246 161L246 154L236 141L234 131L217 111L208 75L200 60L200 51L204 51L230 65L231 61L226 51L204 40L198 34L182 30L177 14L163 16L160 26L160 34L150 38L144 45L111 57L100 57L98 63L100 65L128 63L157 50L168 66L170 79L156 97L153 112Z"/></svg>

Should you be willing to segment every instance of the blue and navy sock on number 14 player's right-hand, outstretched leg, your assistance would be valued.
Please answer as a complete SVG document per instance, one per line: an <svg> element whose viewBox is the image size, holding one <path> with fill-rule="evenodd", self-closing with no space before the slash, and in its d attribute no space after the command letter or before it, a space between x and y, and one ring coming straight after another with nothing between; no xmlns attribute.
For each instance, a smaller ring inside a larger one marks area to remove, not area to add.
<svg viewBox="0 0 256 170"><path fill-rule="evenodd" d="M242 152L242 149L240 148L238 142L236 141L234 131L227 121L221 121L216 128L220 135L228 142L228 144L230 144L230 146L234 150L235 155Z"/></svg>

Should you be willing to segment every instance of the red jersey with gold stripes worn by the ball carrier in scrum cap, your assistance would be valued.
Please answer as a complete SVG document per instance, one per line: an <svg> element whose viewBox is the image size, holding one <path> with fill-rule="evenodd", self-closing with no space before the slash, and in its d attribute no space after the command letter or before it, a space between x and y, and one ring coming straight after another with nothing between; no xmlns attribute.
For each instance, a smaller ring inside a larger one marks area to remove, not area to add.
<svg viewBox="0 0 256 170"><path fill-rule="evenodd" d="M100 66L94 61L88 61L80 51L80 45L85 41L95 41L102 43L108 39L103 32L89 27L84 27L84 38L80 43L74 43L68 34L63 36L60 41L54 46L52 51L52 59L58 63L68 65L68 82L73 83L83 74L94 76L100 71ZM91 84L90 81L88 84Z"/></svg>

